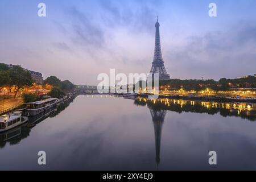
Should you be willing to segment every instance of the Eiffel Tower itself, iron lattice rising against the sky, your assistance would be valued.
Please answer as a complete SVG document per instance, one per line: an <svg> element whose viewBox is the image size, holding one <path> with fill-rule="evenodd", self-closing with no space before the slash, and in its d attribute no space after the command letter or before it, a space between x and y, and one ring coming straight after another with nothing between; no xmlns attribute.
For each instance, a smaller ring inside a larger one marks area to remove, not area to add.
<svg viewBox="0 0 256 182"><path fill-rule="evenodd" d="M151 74L158 73L159 80L170 80L170 75L168 75L166 68L164 67L164 61L162 57L161 44L160 44L160 32L159 32L160 24L158 22L158 18L155 23L155 53L154 53L154 61L152 62L152 67L150 70Z"/></svg>

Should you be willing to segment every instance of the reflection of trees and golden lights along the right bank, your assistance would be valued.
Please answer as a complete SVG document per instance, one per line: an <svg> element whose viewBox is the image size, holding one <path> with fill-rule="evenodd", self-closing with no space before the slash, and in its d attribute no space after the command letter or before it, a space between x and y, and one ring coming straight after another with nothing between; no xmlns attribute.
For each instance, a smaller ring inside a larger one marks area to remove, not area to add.
<svg viewBox="0 0 256 182"><path fill-rule="evenodd" d="M175 111L177 113L208 113L211 115L220 113L223 117L234 116L256 121L256 104L247 104L240 102L202 102L202 101L187 101L187 100L146 100L139 98L134 101L135 105L147 105L154 109L163 109Z"/></svg>

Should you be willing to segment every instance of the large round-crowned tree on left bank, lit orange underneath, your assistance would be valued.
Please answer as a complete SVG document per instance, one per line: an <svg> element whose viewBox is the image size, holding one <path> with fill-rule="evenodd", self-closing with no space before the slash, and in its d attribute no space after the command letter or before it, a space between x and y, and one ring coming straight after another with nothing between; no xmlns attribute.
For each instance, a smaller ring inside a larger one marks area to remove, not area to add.
<svg viewBox="0 0 256 182"><path fill-rule="evenodd" d="M24 86L31 86L33 82L31 74L27 71L24 71L24 69L19 66L14 66L9 70L9 77L10 88L13 86L15 89L14 98L16 97L19 89L24 88Z"/></svg>

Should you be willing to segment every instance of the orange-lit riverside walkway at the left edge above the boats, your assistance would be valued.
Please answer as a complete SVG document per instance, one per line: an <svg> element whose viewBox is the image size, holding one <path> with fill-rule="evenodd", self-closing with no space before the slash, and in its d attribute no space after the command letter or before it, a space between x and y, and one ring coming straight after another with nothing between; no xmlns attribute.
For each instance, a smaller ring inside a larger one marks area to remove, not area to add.
<svg viewBox="0 0 256 182"><path fill-rule="evenodd" d="M22 98L9 98L0 101L0 114L14 110L16 107L23 104Z"/></svg>

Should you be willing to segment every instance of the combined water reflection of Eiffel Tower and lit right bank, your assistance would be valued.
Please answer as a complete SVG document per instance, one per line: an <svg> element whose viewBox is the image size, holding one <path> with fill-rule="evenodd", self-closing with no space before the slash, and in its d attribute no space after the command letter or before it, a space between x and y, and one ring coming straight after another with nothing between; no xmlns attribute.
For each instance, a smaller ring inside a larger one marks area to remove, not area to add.
<svg viewBox="0 0 256 182"><path fill-rule="evenodd" d="M256 120L256 105L245 103L220 103L220 102L201 102L201 101L186 101L186 100L146 100L139 98L134 101L134 105L147 106L150 110L152 122L154 123L155 131L155 160L157 168L160 163L160 145L162 136L162 127L164 118L168 110L177 113L220 113L222 117L234 116L248 119L249 121Z"/></svg>

